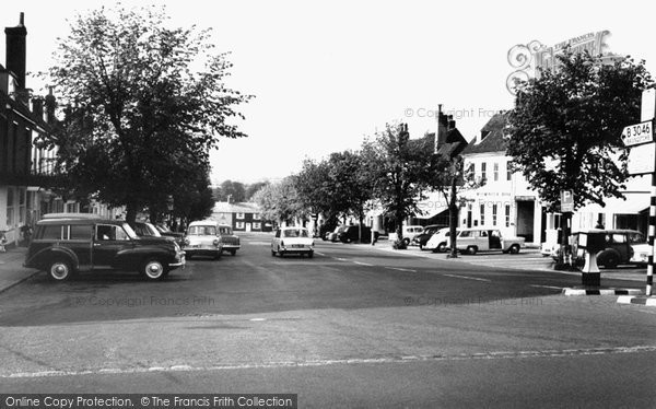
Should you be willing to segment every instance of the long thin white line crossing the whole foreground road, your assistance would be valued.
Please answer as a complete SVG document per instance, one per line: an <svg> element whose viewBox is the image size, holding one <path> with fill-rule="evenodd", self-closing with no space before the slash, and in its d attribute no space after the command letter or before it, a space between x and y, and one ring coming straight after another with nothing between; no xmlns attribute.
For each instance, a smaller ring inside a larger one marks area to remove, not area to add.
<svg viewBox="0 0 656 409"><path fill-rule="evenodd" d="M373 363L408 363L408 362L440 362L440 361L469 361L469 360L511 360L527 358L560 358L560 357L586 357L586 355L608 355L619 353L645 353L656 352L656 346L637 347L611 347L611 348L582 348L565 350L544 350L544 351L495 351L481 353L460 353L460 354L435 354L435 355L401 355L388 358L350 358L333 360L311 360L311 361L280 361L262 363L225 363L211 366L174 365L174 366L151 366L151 367L126 367L126 369L98 369L84 371L40 371L40 372L17 372L0 375L0 378L35 378L48 376L80 376L80 375L106 375L106 374L139 374L153 372L201 372L201 371L226 371L226 370L251 370L251 369L277 369L277 367L307 367L307 366L328 366L328 365L356 365Z"/></svg>

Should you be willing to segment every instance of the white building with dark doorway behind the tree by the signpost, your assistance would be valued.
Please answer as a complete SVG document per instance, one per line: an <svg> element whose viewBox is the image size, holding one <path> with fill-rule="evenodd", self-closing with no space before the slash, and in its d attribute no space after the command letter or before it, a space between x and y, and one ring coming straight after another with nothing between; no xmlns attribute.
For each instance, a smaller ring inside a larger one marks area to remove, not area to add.
<svg viewBox="0 0 656 409"><path fill-rule="evenodd" d="M561 214L547 211L526 178L508 166L504 129L508 113L499 113L481 129L462 152L465 168L485 183L462 196L467 204L460 209L460 226L489 226L505 234L526 238L527 244L555 243L561 229ZM600 222L606 229L634 229L646 233L649 206L646 176L632 177L623 191L625 199L606 199L606 206L588 204L572 217L572 231L593 229ZM576 192L574 192L575 195Z"/></svg>

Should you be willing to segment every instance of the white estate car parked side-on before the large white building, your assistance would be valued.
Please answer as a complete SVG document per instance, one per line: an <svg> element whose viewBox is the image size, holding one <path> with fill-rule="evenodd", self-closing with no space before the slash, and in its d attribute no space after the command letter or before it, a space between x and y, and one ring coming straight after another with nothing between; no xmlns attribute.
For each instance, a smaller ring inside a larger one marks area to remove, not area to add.
<svg viewBox="0 0 656 409"><path fill-rule="evenodd" d="M489 250L517 254L525 246L524 237L504 237L494 229L462 229L456 236L458 250L471 255Z"/></svg>

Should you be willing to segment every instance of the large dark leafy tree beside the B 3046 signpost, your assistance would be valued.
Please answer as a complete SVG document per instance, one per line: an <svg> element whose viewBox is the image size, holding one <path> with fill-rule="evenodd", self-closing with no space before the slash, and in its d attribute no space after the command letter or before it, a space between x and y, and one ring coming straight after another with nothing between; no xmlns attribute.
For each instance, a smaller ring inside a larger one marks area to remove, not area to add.
<svg viewBox="0 0 656 409"><path fill-rule="evenodd" d="M520 84L508 116L507 154L540 198L558 210L560 191L575 208L621 197L628 173L622 128L640 121L641 93L652 82L644 61L609 61L569 50L557 70Z"/></svg>

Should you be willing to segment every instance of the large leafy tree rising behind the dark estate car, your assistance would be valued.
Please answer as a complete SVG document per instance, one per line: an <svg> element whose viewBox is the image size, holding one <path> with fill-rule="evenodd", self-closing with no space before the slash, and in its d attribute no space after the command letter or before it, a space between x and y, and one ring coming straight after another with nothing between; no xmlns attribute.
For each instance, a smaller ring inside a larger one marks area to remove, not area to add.
<svg viewBox="0 0 656 409"><path fill-rule="evenodd" d="M77 192L126 206L133 221L175 195L194 164L206 168L221 137L245 136L229 120L250 96L225 85L231 63L209 31L171 28L164 9L120 7L70 28L49 77L69 106L54 143Z"/></svg>

